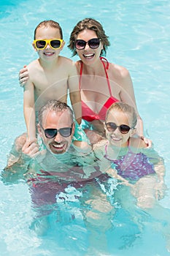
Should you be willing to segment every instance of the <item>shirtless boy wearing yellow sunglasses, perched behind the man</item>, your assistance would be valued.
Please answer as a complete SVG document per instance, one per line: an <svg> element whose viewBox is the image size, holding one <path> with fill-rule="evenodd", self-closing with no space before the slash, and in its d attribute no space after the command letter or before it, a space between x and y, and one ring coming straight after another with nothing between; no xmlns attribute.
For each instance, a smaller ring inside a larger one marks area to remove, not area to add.
<svg viewBox="0 0 170 256"><path fill-rule="evenodd" d="M77 70L70 59L59 56L64 44L57 22L45 20L36 26L33 47L39 59L28 64L29 78L24 86L23 110L28 138L23 150L36 140L36 112L48 99L66 103L68 89L75 118L81 123Z"/></svg>

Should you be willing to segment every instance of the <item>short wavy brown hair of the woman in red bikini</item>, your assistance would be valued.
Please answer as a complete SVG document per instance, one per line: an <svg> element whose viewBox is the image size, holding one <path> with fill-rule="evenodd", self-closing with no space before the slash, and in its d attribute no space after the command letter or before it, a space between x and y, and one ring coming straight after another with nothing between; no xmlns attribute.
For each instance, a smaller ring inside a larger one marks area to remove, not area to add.
<svg viewBox="0 0 170 256"><path fill-rule="evenodd" d="M84 20L80 20L77 25L74 26L74 29L69 38L68 45L68 48L72 50L72 56L77 55L74 42L77 40L78 34L85 29L90 29L96 32L97 37L101 39L101 42L104 45L104 49L101 50L101 56L106 56L107 47L110 45L108 40L109 37L107 37L107 35L105 34L101 23L99 23L97 20L94 20L93 18L85 18Z"/></svg>

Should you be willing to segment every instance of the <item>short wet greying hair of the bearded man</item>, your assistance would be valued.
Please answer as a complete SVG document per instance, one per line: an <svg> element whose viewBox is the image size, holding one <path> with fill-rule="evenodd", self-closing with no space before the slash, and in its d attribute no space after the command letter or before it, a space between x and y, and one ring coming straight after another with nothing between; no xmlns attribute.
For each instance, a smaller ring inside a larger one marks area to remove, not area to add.
<svg viewBox="0 0 170 256"><path fill-rule="evenodd" d="M39 109L38 118L39 118L39 125L40 126L42 126L43 114L45 113L46 110L56 111L56 112L63 112L65 110L68 110L70 118L73 122L73 111L72 111L72 109L69 108L69 106L65 102L59 102L56 99L50 99L50 100L47 101L47 103L44 106L42 106L42 108Z"/></svg>

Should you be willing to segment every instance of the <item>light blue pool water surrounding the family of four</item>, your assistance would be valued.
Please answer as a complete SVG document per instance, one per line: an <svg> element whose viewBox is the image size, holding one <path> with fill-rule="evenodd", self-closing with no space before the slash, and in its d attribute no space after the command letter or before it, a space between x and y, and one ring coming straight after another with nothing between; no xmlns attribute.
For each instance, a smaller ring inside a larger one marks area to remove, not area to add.
<svg viewBox="0 0 170 256"><path fill-rule="evenodd" d="M168 191L161 205L170 208L169 12L168 0L3 1L0 10L1 170L13 140L26 129L18 72L24 64L36 59L31 47L34 28L42 20L57 20L68 42L77 21L92 17L104 25L109 35L111 46L107 59L131 72L147 136L165 159ZM71 52L65 47L63 55L71 57ZM30 229L35 213L28 186L23 182L5 186L0 181L0 191L1 256L85 255L88 231L78 209L75 211L79 217L71 224L64 220L63 224L56 222L53 211L49 217L53 228L46 236L37 236ZM142 225L148 222L147 214L139 214ZM114 228L107 233L110 255L169 255L163 236L152 228L153 222L151 219L141 234L139 226L131 221L131 214L117 209Z"/></svg>

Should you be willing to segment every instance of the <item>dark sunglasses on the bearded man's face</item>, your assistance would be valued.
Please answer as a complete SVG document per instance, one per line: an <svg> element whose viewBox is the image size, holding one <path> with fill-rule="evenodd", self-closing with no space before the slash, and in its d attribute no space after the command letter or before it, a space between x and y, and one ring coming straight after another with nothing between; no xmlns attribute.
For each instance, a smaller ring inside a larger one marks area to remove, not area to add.
<svg viewBox="0 0 170 256"><path fill-rule="evenodd" d="M61 129L43 129L43 130L45 132L45 137L48 139L54 138L58 134L58 132L63 137L69 137L70 135L72 135L72 127L64 127Z"/></svg>

